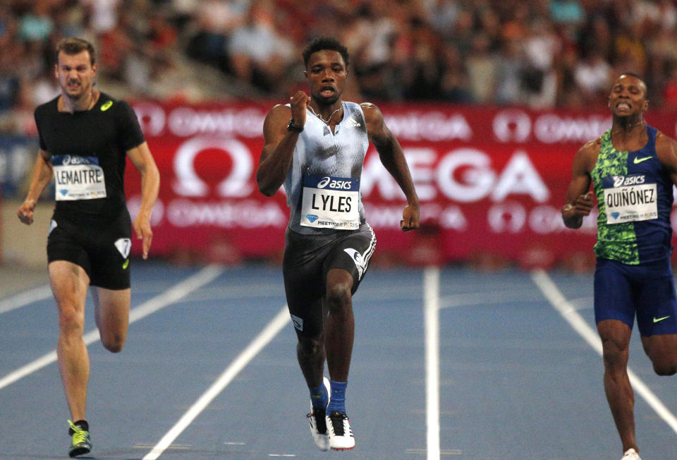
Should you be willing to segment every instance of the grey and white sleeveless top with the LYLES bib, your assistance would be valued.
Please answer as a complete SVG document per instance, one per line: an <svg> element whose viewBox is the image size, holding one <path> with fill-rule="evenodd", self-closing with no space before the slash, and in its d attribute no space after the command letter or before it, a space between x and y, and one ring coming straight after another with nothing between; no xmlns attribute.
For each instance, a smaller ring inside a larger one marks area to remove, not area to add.
<svg viewBox="0 0 677 460"><path fill-rule="evenodd" d="M334 133L307 111L284 181L289 229L317 235L356 230L365 223L360 176L367 147L360 104L343 102L343 119Z"/></svg>

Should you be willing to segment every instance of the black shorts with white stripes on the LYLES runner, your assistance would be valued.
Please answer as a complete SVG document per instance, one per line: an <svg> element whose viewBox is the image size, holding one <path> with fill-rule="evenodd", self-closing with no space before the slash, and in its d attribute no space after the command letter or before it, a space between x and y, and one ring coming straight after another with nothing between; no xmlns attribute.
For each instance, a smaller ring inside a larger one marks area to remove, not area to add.
<svg viewBox="0 0 677 460"><path fill-rule="evenodd" d="M350 272L354 294L375 248L376 236L369 224L328 236L301 235L287 229L282 273L297 334L315 337L324 330L322 310L329 270L341 268Z"/></svg>

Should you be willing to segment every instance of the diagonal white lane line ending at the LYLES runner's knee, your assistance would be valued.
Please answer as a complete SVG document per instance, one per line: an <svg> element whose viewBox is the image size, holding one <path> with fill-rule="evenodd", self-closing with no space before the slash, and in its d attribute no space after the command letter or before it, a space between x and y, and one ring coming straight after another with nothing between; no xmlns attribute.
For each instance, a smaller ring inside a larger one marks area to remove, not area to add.
<svg viewBox="0 0 677 460"><path fill-rule="evenodd" d="M282 330L283 327L289 322L289 310L287 305L284 305L276 317L273 318L271 322L263 329L260 334L252 340L252 342L247 346L246 349L240 353L240 355L233 361L228 368L224 370L219 378L212 384L205 393L200 396L200 398L195 401L193 406L190 406L188 411L183 414L183 416L176 422L176 424L166 432L166 435L162 437L161 440L155 447L148 452L142 460L155 460L161 454L171 446L171 443L176 440L176 438L181 435L185 428L188 428L190 423L193 423L193 420L202 413L202 411L209 406L209 404L219 396L219 394L226 388L232 381L233 378L240 373L241 370L245 368L246 365L252 361L255 356L260 353L264 347L269 344L269 342Z"/></svg>

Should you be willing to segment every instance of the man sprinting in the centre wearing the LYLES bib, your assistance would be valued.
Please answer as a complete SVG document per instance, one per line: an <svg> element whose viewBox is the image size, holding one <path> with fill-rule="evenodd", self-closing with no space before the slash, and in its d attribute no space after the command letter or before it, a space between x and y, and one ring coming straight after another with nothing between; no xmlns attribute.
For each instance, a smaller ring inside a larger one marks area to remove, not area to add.
<svg viewBox="0 0 677 460"><path fill-rule="evenodd" d="M419 226L418 198L395 136L374 104L343 102L348 50L331 37L303 51L310 97L299 91L264 122L257 183L272 196L284 185L290 219L283 275L310 389L310 430L321 450L352 449L345 392L353 351L352 296L376 246L360 198L370 141L407 199L401 229ZM323 379L324 359L329 377Z"/></svg>

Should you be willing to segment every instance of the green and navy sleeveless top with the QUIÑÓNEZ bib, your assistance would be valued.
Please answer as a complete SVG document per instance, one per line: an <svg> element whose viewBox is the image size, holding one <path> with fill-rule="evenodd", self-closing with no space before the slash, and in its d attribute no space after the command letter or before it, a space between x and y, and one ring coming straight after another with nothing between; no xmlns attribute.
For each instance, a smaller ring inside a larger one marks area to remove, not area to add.
<svg viewBox="0 0 677 460"><path fill-rule="evenodd" d="M591 171L597 195L597 257L630 265L671 254L672 181L656 155L656 128L647 126L647 145L619 152L611 131L602 135Z"/></svg>

